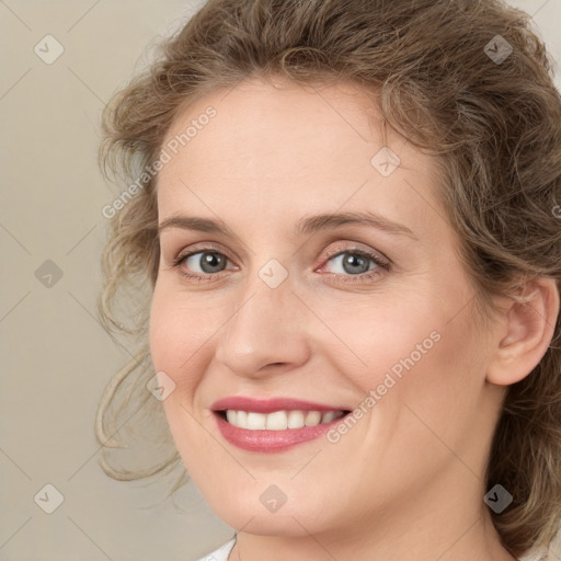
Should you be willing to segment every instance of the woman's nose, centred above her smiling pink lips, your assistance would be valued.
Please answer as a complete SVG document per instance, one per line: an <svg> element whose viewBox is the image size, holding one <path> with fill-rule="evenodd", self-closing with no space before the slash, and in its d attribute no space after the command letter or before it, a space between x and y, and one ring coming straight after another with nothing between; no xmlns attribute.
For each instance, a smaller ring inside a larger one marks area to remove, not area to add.
<svg viewBox="0 0 561 561"><path fill-rule="evenodd" d="M217 360L239 376L253 378L305 364L313 318L293 293L290 276L272 288L254 274L244 288L243 298L232 291L241 304L219 332Z"/></svg>

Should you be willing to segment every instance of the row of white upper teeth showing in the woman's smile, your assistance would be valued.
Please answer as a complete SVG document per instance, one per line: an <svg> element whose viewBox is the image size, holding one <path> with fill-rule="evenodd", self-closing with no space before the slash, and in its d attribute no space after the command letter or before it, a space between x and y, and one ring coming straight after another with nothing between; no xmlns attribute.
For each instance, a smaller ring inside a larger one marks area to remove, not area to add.
<svg viewBox="0 0 561 561"><path fill-rule="evenodd" d="M302 426L316 426L320 423L343 416L342 411L275 411L274 413L254 413L248 411L226 411L226 419L230 424L239 428L250 431L285 431L286 428L301 428Z"/></svg>

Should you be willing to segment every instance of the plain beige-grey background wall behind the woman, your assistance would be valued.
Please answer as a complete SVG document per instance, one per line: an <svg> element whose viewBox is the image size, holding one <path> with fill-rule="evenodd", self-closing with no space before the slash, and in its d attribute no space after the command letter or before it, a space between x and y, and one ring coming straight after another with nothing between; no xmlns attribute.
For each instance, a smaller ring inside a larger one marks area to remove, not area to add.
<svg viewBox="0 0 561 561"><path fill-rule="evenodd" d="M198 3L0 0L0 560L192 561L231 537L193 484L179 510L142 508L168 486L105 477L92 430L129 356L94 312L114 197L96 168L100 114ZM560 0L512 3L561 60ZM65 49L51 65L34 53L47 34ZM35 277L46 260L64 273L50 288ZM33 500L46 483L65 497L50 515Z"/></svg>

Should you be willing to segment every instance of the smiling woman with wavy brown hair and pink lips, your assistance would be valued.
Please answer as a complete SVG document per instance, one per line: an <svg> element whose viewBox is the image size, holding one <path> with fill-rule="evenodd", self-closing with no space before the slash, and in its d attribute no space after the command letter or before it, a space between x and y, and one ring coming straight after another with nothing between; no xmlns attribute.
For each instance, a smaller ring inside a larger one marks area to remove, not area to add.
<svg viewBox="0 0 561 561"><path fill-rule="evenodd" d="M131 390L176 450L140 476L182 461L236 529L205 559L550 547L561 101L528 20L210 0L107 107L102 162L129 187L101 314L126 330L118 288L149 287Z"/></svg>

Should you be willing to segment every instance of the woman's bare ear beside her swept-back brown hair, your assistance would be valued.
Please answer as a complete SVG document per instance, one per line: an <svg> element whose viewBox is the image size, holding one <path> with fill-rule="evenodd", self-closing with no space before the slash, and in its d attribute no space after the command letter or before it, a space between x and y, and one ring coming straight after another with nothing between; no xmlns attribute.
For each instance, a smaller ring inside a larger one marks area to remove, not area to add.
<svg viewBox="0 0 561 561"><path fill-rule="evenodd" d="M531 373L553 337L559 300L557 283L549 277L531 280L524 287L522 298L510 300L486 381L508 386Z"/></svg>

